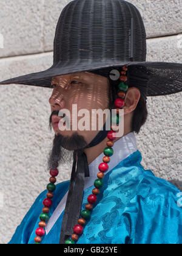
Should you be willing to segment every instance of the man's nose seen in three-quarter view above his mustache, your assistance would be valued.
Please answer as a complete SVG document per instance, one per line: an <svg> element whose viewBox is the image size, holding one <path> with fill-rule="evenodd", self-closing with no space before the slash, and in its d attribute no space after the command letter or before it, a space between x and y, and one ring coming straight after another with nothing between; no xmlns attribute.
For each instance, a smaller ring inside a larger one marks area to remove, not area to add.
<svg viewBox="0 0 182 256"><path fill-rule="evenodd" d="M53 110L61 110L65 106L65 101L62 93L58 91L53 91L52 96L50 96L49 104Z"/></svg>

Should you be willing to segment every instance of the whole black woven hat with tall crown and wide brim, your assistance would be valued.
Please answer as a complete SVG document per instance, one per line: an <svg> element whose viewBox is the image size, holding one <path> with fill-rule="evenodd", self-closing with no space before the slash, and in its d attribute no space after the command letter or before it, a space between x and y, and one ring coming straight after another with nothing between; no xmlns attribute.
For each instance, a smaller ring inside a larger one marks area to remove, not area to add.
<svg viewBox="0 0 182 256"><path fill-rule="evenodd" d="M49 69L0 84L51 87L54 76L97 70L106 74L106 69L127 65L129 87L139 87L145 96L182 90L181 63L146 62L146 30L140 12L130 2L70 2L59 17L53 46Z"/></svg>

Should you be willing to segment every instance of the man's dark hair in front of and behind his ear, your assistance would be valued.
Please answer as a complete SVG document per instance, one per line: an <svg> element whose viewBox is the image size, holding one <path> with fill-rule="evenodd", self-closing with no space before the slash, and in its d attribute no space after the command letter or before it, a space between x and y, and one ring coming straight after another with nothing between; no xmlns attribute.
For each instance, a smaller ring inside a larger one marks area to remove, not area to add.
<svg viewBox="0 0 182 256"><path fill-rule="evenodd" d="M112 108L112 104L117 98L117 85L116 82L109 81L109 108ZM118 82L117 82L118 83ZM140 100L138 101L138 104L136 105L135 110L133 111L133 118L132 118L132 127L131 132L139 133L141 126L143 126L144 123L146 123L147 120L147 105L146 100L143 98L143 96L140 96Z"/></svg>

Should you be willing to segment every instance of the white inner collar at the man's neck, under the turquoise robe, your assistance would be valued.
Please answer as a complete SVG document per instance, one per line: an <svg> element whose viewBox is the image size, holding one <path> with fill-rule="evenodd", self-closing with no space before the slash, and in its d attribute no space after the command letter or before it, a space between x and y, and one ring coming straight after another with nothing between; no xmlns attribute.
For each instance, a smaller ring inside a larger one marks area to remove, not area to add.
<svg viewBox="0 0 182 256"><path fill-rule="evenodd" d="M130 154L133 154L133 152L137 151L135 134L133 132L130 132L127 135L124 135L123 137L120 138L120 140L117 140L114 143L112 148L114 153L112 157L110 157L110 162L108 164L109 169L107 172L105 172L105 174L107 174L109 171L115 168L115 166L118 165L118 163L120 163L122 160L129 157ZM86 190L89 187L92 187L94 181L98 179L98 166L100 163L103 162L103 157L104 153L100 154L98 157L95 158L95 160L92 161L92 163L90 163L90 177L85 177L84 190ZM55 211L50 217L49 222L47 222L47 225L45 226L46 235L50 232L53 225L58 220L59 216L64 210L66 206L67 194L68 192L64 195L64 197L62 197L62 200L59 202L58 206L56 207Z"/></svg>

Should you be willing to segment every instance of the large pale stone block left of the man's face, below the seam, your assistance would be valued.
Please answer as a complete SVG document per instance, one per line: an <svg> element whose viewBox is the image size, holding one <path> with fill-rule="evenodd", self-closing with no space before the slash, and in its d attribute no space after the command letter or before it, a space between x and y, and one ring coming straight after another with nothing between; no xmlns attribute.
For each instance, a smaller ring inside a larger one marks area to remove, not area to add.
<svg viewBox="0 0 182 256"><path fill-rule="evenodd" d="M41 71L51 63L52 53L1 59L0 77ZM1 244L10 241L49 183L47 157L54 135L48 129L51 93L50 88L0 86L0 196L4 196L3 207L0 204ZM61 166L58 183L69 179L71 165Z"/></svg>

